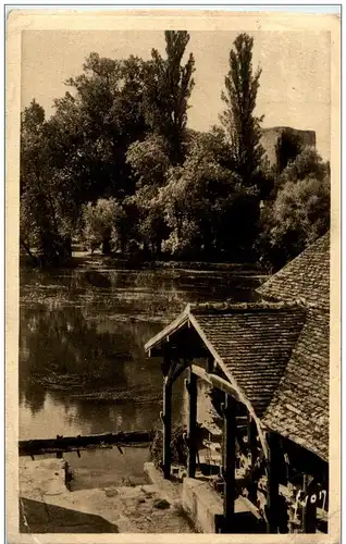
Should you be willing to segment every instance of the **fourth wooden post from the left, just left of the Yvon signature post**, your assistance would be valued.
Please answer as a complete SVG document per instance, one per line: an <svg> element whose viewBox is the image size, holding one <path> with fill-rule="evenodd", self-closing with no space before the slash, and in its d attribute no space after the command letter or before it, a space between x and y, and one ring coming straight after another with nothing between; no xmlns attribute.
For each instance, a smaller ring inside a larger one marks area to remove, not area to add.
<svg viewBox="0 0 346 544"><path fill-rule="evenodd" d="M267 531L277 533L279 506L279 437L276 433L267 434L268 442L268 481L267 481Z"/></svg>

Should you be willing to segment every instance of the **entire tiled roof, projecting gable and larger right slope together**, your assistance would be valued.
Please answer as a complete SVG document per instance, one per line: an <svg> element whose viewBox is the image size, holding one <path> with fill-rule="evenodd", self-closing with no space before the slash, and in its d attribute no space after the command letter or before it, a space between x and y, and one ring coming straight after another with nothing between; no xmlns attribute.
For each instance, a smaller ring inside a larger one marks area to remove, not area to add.
<svg viewBox="0 0 346 544"><path fill-rule="evenodd" d="M151 349L193 325L261 423L324 460L329 450L329 249L326 234L259 289L280 302L188 305L146 345Z"/></svg>

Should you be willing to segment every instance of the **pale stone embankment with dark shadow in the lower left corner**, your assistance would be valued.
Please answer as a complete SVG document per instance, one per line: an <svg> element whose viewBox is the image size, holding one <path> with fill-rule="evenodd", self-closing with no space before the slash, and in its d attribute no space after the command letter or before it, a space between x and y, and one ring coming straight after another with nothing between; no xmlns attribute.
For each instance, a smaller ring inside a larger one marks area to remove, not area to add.
<svg viewBox="0 0 346 544"><path fill-rule="evenodd" d="M181 484L152 479L143 485L70 492L63 459L20 459L20 527L26 533L193 533L181 507ZM162 483L163 482L163 483Z"/></svg>

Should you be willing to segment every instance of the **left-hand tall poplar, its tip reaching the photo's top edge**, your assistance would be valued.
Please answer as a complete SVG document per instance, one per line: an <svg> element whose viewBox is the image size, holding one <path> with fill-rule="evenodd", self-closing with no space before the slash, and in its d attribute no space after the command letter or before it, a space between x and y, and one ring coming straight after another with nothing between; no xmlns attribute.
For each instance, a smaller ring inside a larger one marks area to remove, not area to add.
<svg viewBox="0 0 346 544"><path fill-rule="evenodd" d="M150 127L147 137L128 147L126 162L136 183L127 202L138 210L138 236L146 250L160 255L162 240L169 235L159 189L166 183L172 164L184 160L188 99L194 87L194 57L185 54L187 32L165 32L166 59L152 49L151 61L144 66L144 112Z"/></svg>

